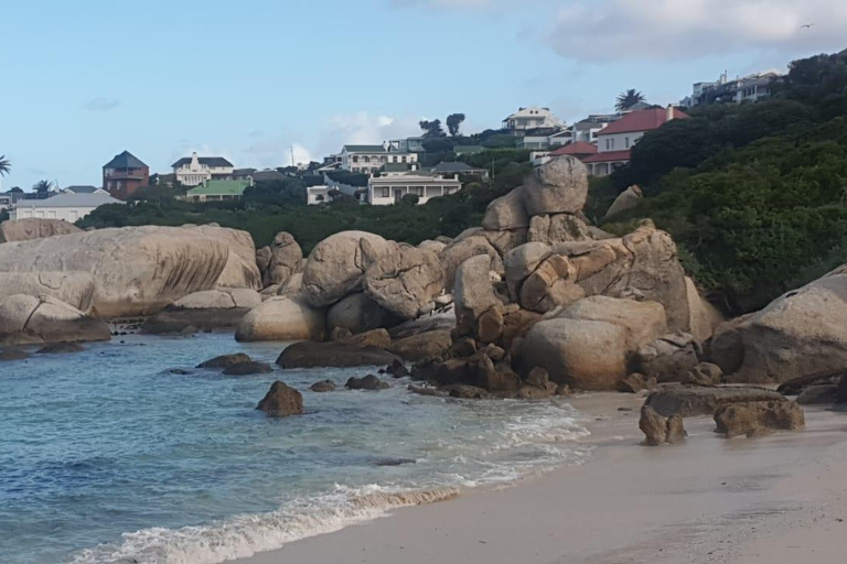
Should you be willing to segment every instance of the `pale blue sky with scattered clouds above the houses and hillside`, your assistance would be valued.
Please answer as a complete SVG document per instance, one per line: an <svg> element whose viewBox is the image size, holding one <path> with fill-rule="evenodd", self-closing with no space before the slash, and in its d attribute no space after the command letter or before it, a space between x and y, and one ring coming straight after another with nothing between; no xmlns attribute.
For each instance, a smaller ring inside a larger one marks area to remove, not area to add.
<svg viewBox="0 0 847 564"><path fill-rule="evenodd" d="M785 70L845 29L844 0L4 0L0 182L100 185L124 150L159 173L192 151L283 166L453 112L572 122L628 88L666 105Z"/></svg>

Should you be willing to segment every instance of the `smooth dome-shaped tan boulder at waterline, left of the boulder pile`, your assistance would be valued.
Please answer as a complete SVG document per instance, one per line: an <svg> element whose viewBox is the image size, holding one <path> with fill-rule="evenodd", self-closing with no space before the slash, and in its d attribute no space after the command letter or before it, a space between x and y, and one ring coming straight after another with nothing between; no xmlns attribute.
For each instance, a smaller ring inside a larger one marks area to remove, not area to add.
<svg viewBox="0 0 847 564"><path fill-rule="evenodd" d="M301 297L275 296L250 310L235 332L236 340L323 339L325 312Z"/></svg>

